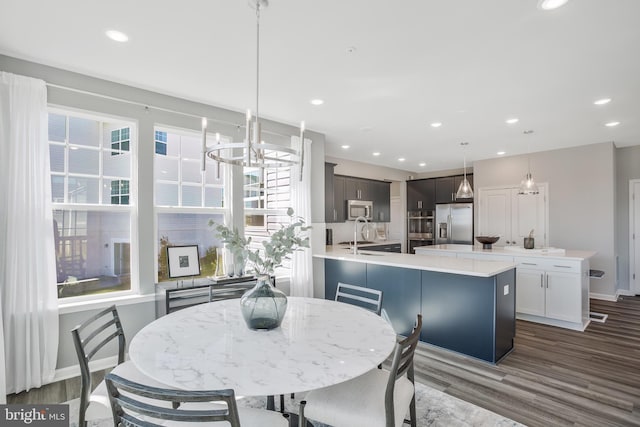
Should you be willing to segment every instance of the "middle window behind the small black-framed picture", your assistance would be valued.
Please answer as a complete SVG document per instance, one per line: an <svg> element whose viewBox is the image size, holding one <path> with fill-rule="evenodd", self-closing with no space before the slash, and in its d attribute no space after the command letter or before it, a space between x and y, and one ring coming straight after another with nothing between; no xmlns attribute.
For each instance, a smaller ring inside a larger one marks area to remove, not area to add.
<svg viewBox="0 0 640 427"><path fill-rule="evenodd" d="M169 280L168 246L198 245L200 277L212 276L222 245L209 221L224 224L228 214L224 165L207 158L201 171L202 140L195 132L156 129L155 143L158 281Z"/></svg>

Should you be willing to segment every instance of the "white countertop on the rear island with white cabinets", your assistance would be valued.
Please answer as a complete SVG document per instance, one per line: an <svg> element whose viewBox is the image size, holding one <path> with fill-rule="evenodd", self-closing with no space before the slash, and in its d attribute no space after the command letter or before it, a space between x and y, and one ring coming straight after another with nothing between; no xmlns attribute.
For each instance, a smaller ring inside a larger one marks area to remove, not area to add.
<svg viewBox="0 0 640 427"><path fill-rule="evenodd" d="M416 252L434 252L445 251L455 253L474 253L474 254L493 254L493 255L506 255L512 257L541 257L541 258L553 258L553 259L575 259L585 260L596 255L594 251L578 251L578 250L561 250L555 251L553 248L545 251L540 249L520 249L520 248L503 248L494 246L492 249L482 249L482 245L432 245L432 246L418 246L414 248Z"/></svg>

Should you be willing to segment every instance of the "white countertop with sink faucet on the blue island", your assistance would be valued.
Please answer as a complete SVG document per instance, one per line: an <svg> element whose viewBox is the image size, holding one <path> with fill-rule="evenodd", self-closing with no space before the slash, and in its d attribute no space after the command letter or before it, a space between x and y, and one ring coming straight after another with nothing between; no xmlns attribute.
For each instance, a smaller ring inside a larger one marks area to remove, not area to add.
<svg viewBox="0 0 640 427"><path fill-rule="evenodd" d="M462 274L465 276L491 277L515 268L512 262L484 261L429 255L398 254L387 252L360 251L354 255L345 247L327 246L324 252L314 253L317 258L378 264L390 267L436 271L440 273Z"/></svg>

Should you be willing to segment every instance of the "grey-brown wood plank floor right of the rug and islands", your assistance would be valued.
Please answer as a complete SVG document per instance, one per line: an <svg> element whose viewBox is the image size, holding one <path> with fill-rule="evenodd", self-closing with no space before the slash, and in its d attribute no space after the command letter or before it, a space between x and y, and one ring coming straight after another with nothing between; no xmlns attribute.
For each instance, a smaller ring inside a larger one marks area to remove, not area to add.
<svg viewBox="0 0 640 427"><path fill-rule="evenodd" d="M420 345L416 380L531 427L640 426L640 297L591 310L608 318L585 332L517 321L495 366Z"/></svg>

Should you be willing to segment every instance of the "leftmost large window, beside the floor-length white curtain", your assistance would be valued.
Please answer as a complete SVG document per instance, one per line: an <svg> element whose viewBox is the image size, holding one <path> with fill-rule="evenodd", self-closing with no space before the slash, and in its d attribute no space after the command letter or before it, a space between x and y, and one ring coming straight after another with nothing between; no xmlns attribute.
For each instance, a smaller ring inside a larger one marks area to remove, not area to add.
<svg viewBox="0 0 640 427"><path fill-rule="evenodd" d="M133 124L51 110L58 296L131 289Z"/></svg>

